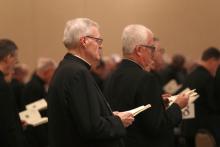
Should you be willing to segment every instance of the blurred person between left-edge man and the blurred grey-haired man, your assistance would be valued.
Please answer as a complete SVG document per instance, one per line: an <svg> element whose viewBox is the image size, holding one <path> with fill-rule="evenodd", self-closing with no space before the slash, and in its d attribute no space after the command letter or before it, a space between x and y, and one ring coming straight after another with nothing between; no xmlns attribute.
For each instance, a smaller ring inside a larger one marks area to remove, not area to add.
<svg viewBox="0 0 220 147"><path fill-rule="evenodd" d="M11 86L16 100L17 110L24 110L22 105L22 92L27 81L29 70L25 64L17 64L12 74Z"/></svg>

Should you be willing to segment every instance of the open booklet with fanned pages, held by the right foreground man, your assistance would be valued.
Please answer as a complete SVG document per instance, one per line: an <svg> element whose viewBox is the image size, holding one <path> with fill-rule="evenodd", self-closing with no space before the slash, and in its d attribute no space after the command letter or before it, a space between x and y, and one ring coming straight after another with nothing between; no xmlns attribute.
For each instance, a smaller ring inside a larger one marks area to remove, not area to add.
<svg viewBox="0 0 220 147"><path fill-rule="evenodd" d="M189 95L188 104L192 104L199 97L199 94L197 92L195 92L195 91L196 91L196 89L191 90L189 88L186 88L182 92L180 92L179 94L183 94L184 93L186 95ZM179 94L171 96L171 97L168 98L169 101L170 101L169 102L169 106L171 106L175 102L175 100L177 99L177 96Z"/></svg>

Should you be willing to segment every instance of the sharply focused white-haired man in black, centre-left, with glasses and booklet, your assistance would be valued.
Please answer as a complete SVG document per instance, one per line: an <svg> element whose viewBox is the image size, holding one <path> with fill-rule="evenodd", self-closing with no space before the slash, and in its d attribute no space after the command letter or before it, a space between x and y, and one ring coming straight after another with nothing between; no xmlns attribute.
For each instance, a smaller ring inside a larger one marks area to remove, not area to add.
<svg viewBox="0 0 220 147"><path fill-rule="evenodd" d="M63 42L68 50L48 93L50 147L121 147L129 112L112 113L90 67L100 60L98 24L88 18L67 22Z"/></svg>

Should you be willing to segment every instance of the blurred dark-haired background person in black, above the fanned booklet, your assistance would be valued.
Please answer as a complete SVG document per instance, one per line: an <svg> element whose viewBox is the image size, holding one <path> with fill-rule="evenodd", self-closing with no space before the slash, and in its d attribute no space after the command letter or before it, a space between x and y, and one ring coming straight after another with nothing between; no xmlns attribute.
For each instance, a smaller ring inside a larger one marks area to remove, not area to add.
<svg viewBox="0 0 220 147"><path fill-rule="evenodd" d="M182 84L186 78L187 71L184 68L185 57L182 55L174 55L170 65L160 71L160 77L163 85L174 79L178 84Z"/></svg>

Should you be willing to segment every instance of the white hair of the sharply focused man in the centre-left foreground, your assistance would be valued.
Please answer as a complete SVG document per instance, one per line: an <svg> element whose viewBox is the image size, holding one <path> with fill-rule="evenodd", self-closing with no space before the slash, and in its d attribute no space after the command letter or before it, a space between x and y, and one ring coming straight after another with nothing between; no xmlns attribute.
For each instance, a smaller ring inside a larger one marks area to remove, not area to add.
<svg viewBox="0 0 220 147"><path fill-rule="evenodd" d="M91 27L99 28L99 25L88 18L76 18L69 20L64 29L63 43L67 49L75 48L79 45L82 36L91 34Z"/></svg>

